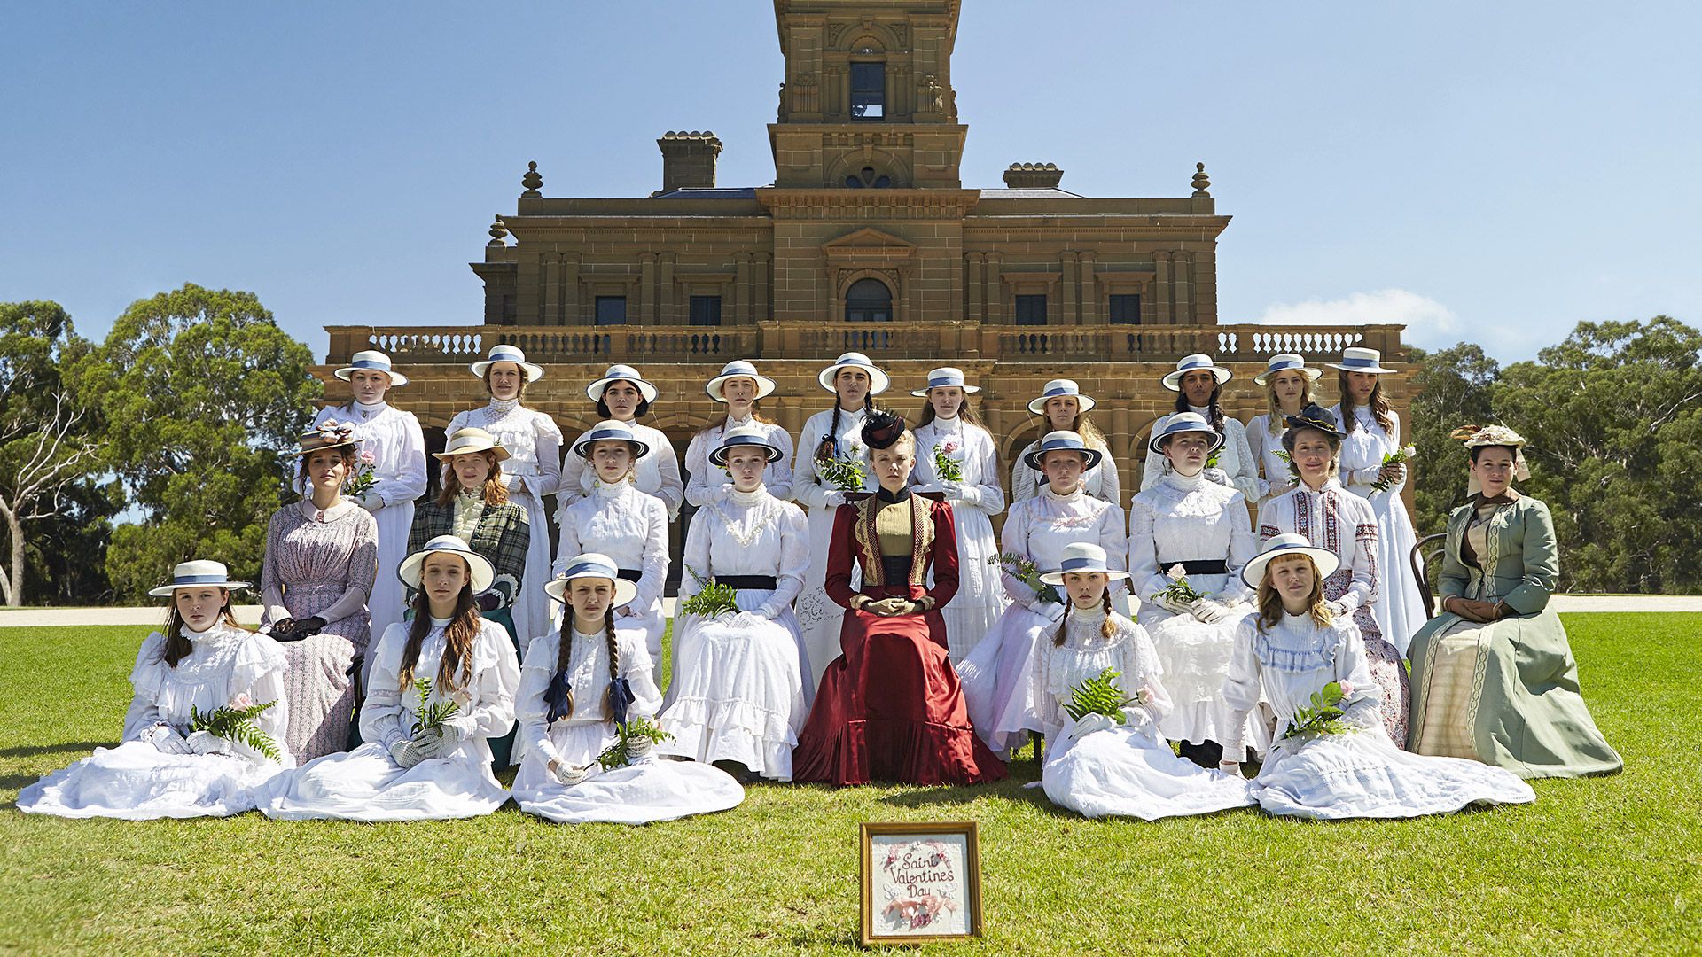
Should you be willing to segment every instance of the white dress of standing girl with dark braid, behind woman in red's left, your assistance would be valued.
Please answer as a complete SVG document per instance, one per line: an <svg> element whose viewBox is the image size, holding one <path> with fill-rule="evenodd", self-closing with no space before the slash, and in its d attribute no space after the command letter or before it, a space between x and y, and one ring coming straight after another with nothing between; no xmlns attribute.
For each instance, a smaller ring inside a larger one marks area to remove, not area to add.
<svg viewBox="0 0 1702 957"><path fill-rule="evenodd" d="M839 456L853 456L863 461L863 490L875 492L875 470L868 463L868 448L863 446L861 409L856 412L839 412L839 429L834 441ZM839 625L846 610L827 598L827 548L834 538L834 511L844 504L844 492L836 485L824 484L815 472L815 451L822 444L834 422L834 410L817 412L798 433L798 461L791 470L791 496L810 513L810 572L798 593L798 627L803 628L803 647L810 661L808 683L814 688L822 683L822 671L827 662L839 657ZM863 576L853 565L851 589L861 587Z"/></svg>

